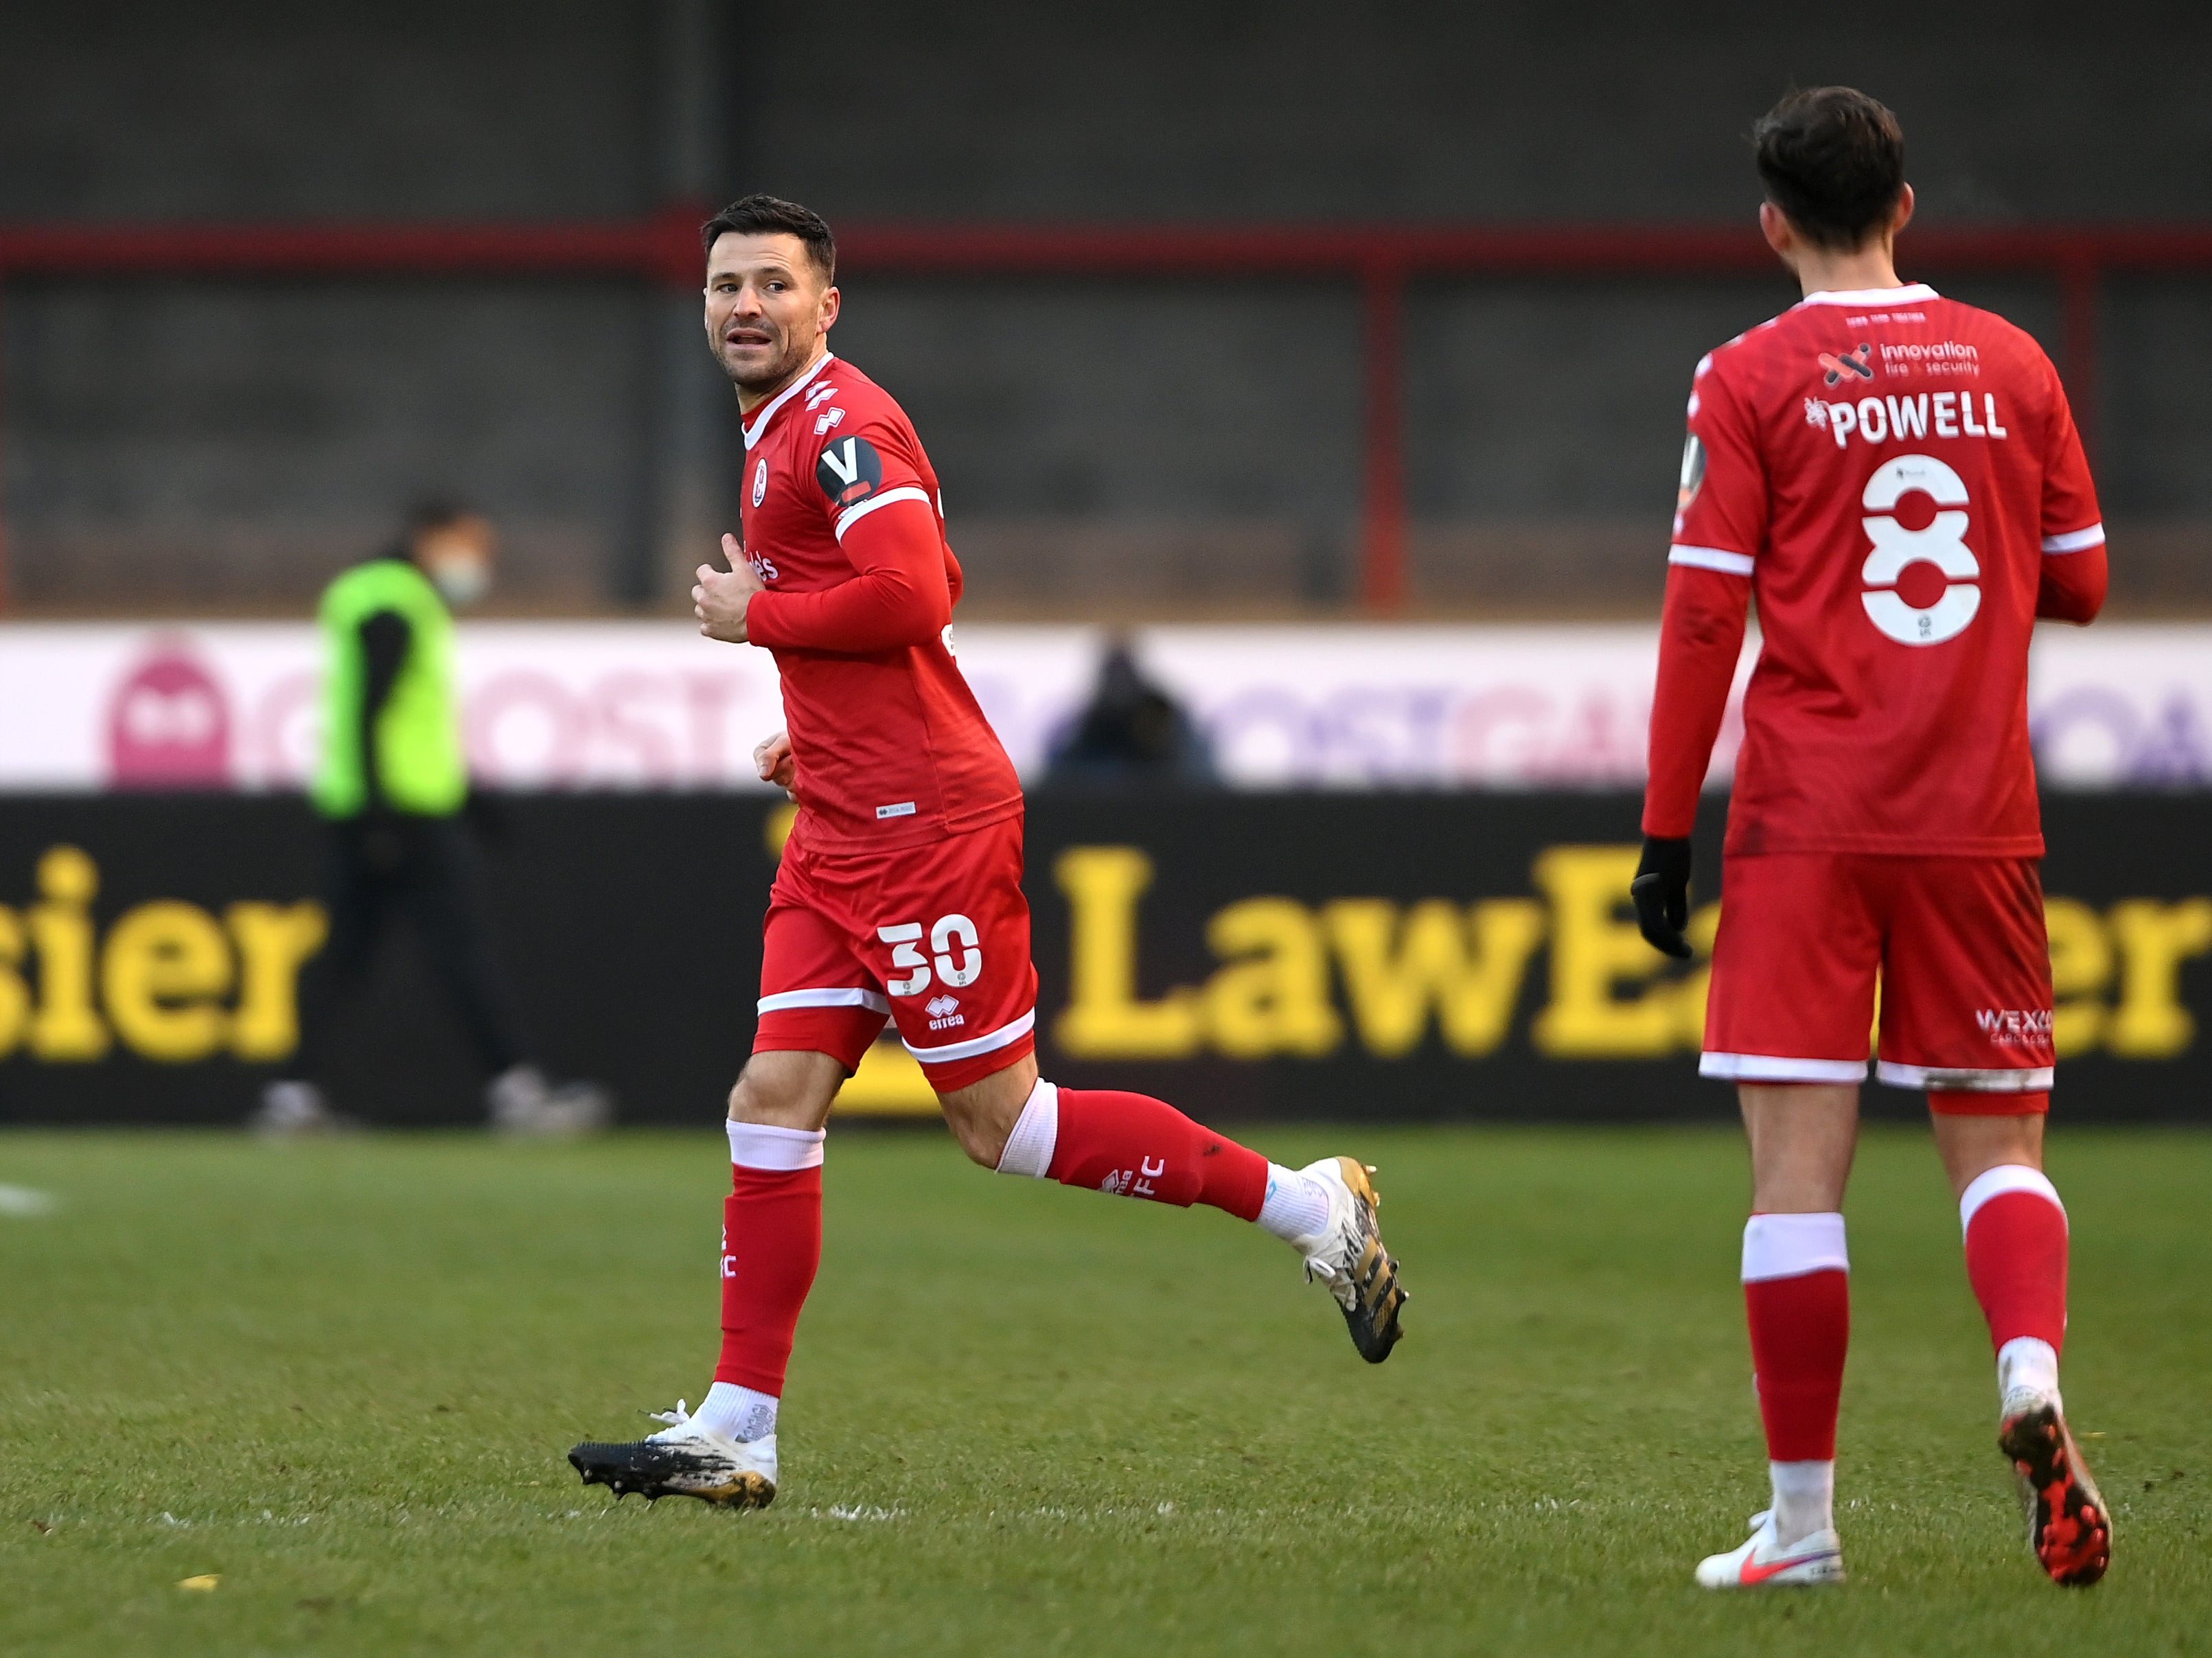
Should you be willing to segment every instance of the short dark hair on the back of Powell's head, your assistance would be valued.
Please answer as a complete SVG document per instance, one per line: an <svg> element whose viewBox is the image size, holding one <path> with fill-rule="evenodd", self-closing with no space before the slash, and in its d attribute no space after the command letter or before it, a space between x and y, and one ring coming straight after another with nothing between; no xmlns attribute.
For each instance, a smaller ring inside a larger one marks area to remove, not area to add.
<svg viewBox="0 0 2212 1658"><path fill-rule="evenodd" d="M1905 130L1849 86L1790 93L1752 126L1767 201L1816 248L1863 248L1905 195Z"/></svg>

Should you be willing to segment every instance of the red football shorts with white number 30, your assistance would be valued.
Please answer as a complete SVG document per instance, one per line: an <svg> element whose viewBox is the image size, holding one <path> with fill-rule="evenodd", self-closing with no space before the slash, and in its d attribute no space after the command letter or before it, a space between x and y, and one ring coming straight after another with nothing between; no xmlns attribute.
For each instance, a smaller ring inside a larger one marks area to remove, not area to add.
<svg viewBox="0 0 2212 1658"><path fill-rule="evenodd" d="M1022 820L887 853L792 838L768 895L752 1052L821 1052L858 1070L898 1021L940 1094L1033 1052Z"/></svg>

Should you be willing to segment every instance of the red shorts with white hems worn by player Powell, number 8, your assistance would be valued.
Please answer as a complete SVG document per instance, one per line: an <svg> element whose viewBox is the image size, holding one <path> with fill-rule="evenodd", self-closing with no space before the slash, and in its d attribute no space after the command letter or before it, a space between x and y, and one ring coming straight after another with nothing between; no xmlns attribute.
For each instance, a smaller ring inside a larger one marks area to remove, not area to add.
<svg viewBox="0 0 2212 1658"><path fill-rule="evenodd" d="M2051 944L2033 858L1728 858L1699 1072L1863 1081L1876 979L1880 1081L1986 1096L2051 1088Z"/></svg>

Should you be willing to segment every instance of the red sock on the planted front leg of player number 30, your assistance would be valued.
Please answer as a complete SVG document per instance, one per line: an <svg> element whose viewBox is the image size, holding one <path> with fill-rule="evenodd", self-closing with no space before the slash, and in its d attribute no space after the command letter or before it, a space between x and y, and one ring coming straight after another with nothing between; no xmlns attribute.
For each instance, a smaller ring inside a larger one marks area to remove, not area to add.
<svg viewBox="0 0 2212 1658"><path fill-rule="evenodd" d="M799 1309L823 1260L823 1172L730 1167L721 1205L717 1382L783 1397Z"/></svg>

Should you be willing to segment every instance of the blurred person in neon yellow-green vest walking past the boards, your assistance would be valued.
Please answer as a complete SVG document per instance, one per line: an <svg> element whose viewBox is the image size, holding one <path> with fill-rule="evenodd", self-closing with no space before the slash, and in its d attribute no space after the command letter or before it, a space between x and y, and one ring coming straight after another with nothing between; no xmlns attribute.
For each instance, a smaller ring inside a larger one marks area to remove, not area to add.
<svg viewBox="0 0 2212 1658"><path fill-rule="evenodd" d="M263 1134L354 1125L330 1094L332 1024L363 988L396 915L414 924L491 1079L484 1108L495 1130L577 1134L608 1119L604 1090L553 1088L529 1061L491 948L476 840L462 820L469 774L449 606L489 590L495 548L487 520L429 502L414 511L398 544L323 592L323 730L307 794L327 829L330 942L301 977L296 1070L263 1090L250 1119Z"/></svg>

